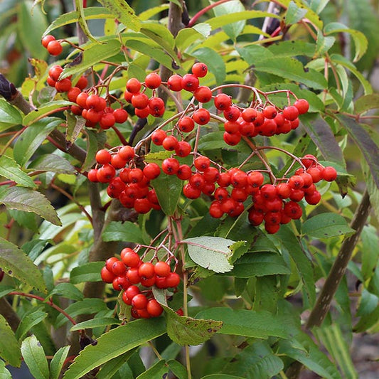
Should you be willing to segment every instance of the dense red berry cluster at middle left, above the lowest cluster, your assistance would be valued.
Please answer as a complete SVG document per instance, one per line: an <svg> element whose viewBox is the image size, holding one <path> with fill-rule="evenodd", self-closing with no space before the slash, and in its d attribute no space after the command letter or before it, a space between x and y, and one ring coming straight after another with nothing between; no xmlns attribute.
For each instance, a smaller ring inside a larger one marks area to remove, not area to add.
<svg viewBox="0 0 379 379"><path fill-rule="evenodd" d="M88 171L87 177L92 182L108 183L108 196L118 198L126 208L134 208L138 213L148 213L152 208L159 210L161 207L150 181L159 176L161 169L154 163L139 169L134 156L131 146L122 146L113 154L101 149L97 151L96 161L102 166Z"/></svg>

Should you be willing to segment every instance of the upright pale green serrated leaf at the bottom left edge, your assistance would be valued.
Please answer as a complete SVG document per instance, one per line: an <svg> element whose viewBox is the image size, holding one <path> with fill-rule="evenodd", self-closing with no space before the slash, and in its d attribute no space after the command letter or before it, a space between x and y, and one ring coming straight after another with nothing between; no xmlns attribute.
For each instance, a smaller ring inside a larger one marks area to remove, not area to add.
<svg viewBox="0 0 379 379"><path fill-rule="evenodd" d="M31 375L35 379L48 379L48 361L45 351L36 336L30 336L23 340L21 345L21 353L23 361L25 361Z"/></svg>

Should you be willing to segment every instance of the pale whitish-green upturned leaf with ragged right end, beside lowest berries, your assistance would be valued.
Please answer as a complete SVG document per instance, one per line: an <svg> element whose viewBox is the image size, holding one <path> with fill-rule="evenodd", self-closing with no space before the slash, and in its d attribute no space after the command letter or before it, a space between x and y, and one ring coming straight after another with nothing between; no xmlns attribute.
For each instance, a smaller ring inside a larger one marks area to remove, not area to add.
<svg viewBox="0 0 379 379"><path fill-rule="evenodd" d="M228 262L232 255L230 245L235 241L222 237L193 237L182 242L187 244L188 254L197 265L214 272L227 272L233 269Z"/></svg>

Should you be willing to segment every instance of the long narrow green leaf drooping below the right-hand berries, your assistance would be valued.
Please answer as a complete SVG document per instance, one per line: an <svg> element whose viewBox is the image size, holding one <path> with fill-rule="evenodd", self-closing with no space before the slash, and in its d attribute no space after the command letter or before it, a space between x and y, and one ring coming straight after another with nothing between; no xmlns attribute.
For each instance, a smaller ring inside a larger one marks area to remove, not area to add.
<svg viewBox="0 0 379 379"><path fill-rule="evenodd" d="M301 277L301 282L303 282L306 294L308 295L309 302L314 304L314 301L316 300L316 290L314 286L313 267L311 261L306 257L305 252L302 250L300 241L288 225L282 225L279 232L277 232L274 237L279 244L285 247L294 260L297 272Z"/></svg>

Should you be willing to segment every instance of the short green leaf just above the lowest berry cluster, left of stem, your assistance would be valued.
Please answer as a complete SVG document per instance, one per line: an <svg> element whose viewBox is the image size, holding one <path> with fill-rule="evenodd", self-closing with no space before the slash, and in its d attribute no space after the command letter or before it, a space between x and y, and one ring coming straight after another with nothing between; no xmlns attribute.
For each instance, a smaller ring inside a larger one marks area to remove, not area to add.
<svg viewBox="0 0 379 379"><path fill-rule="evenodd" d="M122 221L110 222L102 233L102 240L106 242L124 241L142 244L146 242L139 226L130 221L125 221L124 223Z"/></svg>

